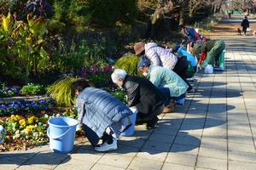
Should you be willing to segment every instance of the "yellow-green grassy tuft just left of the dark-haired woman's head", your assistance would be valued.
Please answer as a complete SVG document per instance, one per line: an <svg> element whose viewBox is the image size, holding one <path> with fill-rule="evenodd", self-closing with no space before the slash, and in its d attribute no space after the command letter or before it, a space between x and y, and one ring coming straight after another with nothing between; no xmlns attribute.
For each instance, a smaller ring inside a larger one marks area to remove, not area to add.
<svg viewBox="0 0 256 170"><path fill-rule="evenodd" d="M76 77L61 78L47 88L47 93L55 99L57 105L72 106L74 98L71 95L71 85L76 80Z"/></svg>

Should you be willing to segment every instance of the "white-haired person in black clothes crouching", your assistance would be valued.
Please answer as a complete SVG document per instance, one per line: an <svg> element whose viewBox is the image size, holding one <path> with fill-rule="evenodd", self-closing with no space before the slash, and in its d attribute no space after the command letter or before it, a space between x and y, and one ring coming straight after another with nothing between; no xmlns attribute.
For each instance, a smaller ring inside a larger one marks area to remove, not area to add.
<svg viewBox="0 0 256 170"><path fill-rule="evenodd" d="M114 70L111 77L113 83L127 92L128 105L137 107L137 122L153 128L158 122L157 116L164 110L165 96L147 79L129 76L124 70Z"/></svg>

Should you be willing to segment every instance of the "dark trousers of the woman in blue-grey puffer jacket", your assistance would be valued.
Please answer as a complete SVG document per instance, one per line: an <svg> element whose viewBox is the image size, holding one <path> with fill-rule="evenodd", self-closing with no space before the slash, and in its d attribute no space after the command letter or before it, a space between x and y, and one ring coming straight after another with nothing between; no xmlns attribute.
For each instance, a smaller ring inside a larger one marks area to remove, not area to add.
<svg viewBox="0 0 256 170"><path fill-rule="evenodd" d="M100 138L98 137L98 135L93 130L91 130L90 127L87 127L84 124L83 124L83 130L84 130L84 134L85 134L86 138L89 140L90 144L93 147L96 147L96 145L100 141ZM108 144L112 144L112 142L113 142L112 135L109 135L108 133L103 133L103 136L101 139L102 139L102 143L107 142Z"/></svg>

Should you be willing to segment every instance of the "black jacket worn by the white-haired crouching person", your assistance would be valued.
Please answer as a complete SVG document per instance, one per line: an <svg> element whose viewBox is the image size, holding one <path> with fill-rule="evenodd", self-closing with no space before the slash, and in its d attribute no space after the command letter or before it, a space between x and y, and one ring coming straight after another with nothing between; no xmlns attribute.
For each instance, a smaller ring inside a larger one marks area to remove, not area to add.
<svg viewBox="0 0 256 170"><path fill-rule="evenodd" d="M155 113L165 104L164 95L146 78L127 75L123 88L128 95L128 105L136 106L137 110L143 114Z"/></svg>

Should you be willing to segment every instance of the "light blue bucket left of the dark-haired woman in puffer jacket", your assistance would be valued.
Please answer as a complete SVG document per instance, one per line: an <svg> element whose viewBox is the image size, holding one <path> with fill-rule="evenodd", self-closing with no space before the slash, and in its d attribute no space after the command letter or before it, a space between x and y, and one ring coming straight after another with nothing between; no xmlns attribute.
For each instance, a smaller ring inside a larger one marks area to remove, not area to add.
<svg viewBox="0 0 256 170"><path fill-rule="evenodd" d="M69 117L55 117L48 121L47 136L49 149L58 153L68 153L73 150L78 121Z"/></svg>

